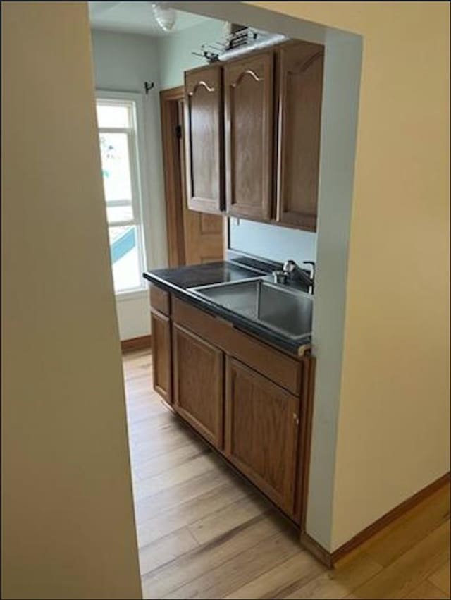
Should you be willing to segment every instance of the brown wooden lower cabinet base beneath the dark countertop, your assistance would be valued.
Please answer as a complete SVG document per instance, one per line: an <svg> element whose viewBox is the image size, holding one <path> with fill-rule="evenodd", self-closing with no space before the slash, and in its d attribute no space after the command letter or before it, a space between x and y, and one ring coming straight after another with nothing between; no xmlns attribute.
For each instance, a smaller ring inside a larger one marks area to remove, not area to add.
<svg viewBox="0 0 451 600"><path fill-rule="evenodd" d="M272 348L161 288L152 286L151 302L155 390L302 523L314 359Z"/></svg>

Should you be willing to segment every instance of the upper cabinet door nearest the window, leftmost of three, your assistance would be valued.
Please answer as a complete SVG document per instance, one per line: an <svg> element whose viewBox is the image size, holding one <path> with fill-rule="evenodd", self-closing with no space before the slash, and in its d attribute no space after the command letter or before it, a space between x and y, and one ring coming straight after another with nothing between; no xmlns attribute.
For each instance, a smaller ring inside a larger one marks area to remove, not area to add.
<svg viewBox="0 0 451 600"><path fill-rule="evenodd" d="M220 65L185 73L185 143L188 207L221 212L225 201Z"/></svg>

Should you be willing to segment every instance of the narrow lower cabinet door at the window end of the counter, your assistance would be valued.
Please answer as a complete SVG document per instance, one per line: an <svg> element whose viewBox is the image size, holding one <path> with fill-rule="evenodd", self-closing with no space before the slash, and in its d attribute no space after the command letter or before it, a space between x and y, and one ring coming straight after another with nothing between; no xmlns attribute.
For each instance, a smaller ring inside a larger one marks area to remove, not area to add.
<svg viewBox="0 0 451 600"><path fill-rule="evenodd" d="M171 404L171 321L155 310L151 311L150 317L154 390Z"/></svg>

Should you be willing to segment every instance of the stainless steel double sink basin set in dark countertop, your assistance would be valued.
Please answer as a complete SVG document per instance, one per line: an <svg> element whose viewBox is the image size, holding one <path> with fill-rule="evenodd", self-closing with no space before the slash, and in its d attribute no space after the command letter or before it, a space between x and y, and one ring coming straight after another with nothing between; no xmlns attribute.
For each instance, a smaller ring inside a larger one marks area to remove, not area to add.
<svg viewBox="0 0 451 600"><path fill-rule="evenodd" d="M190 291L290 338L311 333L313 297L300 290L256 278L199 286Z"/></svg>

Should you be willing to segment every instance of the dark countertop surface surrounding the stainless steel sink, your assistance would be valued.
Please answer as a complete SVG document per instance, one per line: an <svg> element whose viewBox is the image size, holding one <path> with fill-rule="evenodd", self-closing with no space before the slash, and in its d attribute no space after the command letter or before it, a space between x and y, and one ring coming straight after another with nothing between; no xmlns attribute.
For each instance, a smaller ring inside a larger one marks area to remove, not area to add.
<svg viewBox="0 0 451 600"><path fill-rule="evenodd" d="M265 276L271 273L271 267L273 267L273 265L266 266L261 262L254 263L255 265L258 265L259 268L247 267L233 261L209 262L173 269L155 269L154 271L146 271L143 276L156 286L178 296L178 298L186 300L210 314L230 321L237 329L251 333L262 341L285 350L285 352L299 355L299 348L310 345L310 335L289 338L284 336L283 333L266 327L264 324L259 324L237 312L228 310L226 307L221 307L189 289L197 286L208 286L212 283L225 283L227 281L240 281L249 277Z"/></svg>

